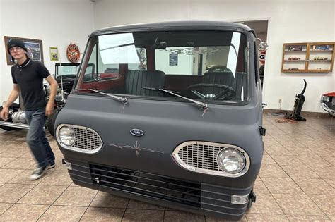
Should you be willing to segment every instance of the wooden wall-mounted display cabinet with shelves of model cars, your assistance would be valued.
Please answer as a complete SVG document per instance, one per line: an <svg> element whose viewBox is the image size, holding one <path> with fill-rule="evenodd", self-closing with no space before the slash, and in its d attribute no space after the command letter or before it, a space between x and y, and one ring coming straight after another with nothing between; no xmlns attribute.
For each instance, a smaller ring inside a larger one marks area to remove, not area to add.
<svg viewBox="0 0 335 222"><path fill-rule="evenodd" d="M283 44L283 73L329 73L333 70L335 42Z"/></svg>

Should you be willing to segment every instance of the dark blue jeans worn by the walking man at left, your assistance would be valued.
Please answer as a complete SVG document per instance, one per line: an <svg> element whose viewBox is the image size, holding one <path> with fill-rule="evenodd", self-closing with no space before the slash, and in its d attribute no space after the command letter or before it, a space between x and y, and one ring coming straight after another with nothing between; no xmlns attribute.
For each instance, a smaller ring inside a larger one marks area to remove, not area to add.
<svg viewBox="0 0 335 222"><path fill-rule="evenodd" d="M54 153L45 137L45 109L25 111L25 118L29 123L27 142L33 152L39 167L54 163Z"/></svg>

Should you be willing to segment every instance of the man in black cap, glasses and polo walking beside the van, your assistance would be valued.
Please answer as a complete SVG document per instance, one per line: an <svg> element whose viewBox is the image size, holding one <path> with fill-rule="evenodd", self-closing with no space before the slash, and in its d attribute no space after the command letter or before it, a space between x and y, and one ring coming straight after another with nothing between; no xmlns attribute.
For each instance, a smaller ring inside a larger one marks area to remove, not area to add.
<svg viewBox="0 0 335 222"><path fill-rule="evenodd" d="M54 110L57 82L42 63L30 60L23 41L11 39L7 47L8 53L11 54L16 64L11 67L13 90L3 106L1 118L8 118L8 107L21 93L25 116L29 123L27 142L38 163L38 167L30 175L30 180L37 180L46 173L47 169L54 167L54 153L45 137L44 125L47 116ZM46 101L43 90L44 78L51 87L49 101Z"/></svg>

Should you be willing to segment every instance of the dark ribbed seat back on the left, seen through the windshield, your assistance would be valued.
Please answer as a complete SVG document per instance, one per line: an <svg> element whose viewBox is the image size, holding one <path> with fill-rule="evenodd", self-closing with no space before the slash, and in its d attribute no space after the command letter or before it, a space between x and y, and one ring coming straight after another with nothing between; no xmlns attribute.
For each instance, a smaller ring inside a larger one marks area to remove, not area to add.
<svg viewBox="0 0 335 222"><path fill-rule="evenodd" d="M161 89L164 87L165 73L158 70L129 70L125 80L126 94L141 96L161 96L161 92L146 90L143 87Z"/></svg>

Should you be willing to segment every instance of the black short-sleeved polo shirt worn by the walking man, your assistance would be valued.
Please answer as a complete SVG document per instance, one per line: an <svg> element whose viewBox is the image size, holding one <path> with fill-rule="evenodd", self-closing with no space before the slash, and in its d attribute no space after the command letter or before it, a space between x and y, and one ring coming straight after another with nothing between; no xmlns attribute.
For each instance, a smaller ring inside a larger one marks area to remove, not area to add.
<svg viewBox="0 0 335 222"><path fill-rule="evenodd" d="M37 61L27 60L22 65L11 67L14 84L20 87L25 110L45 108L47 100L43 89L43 79L50 75L45 66Z"/></svg>

